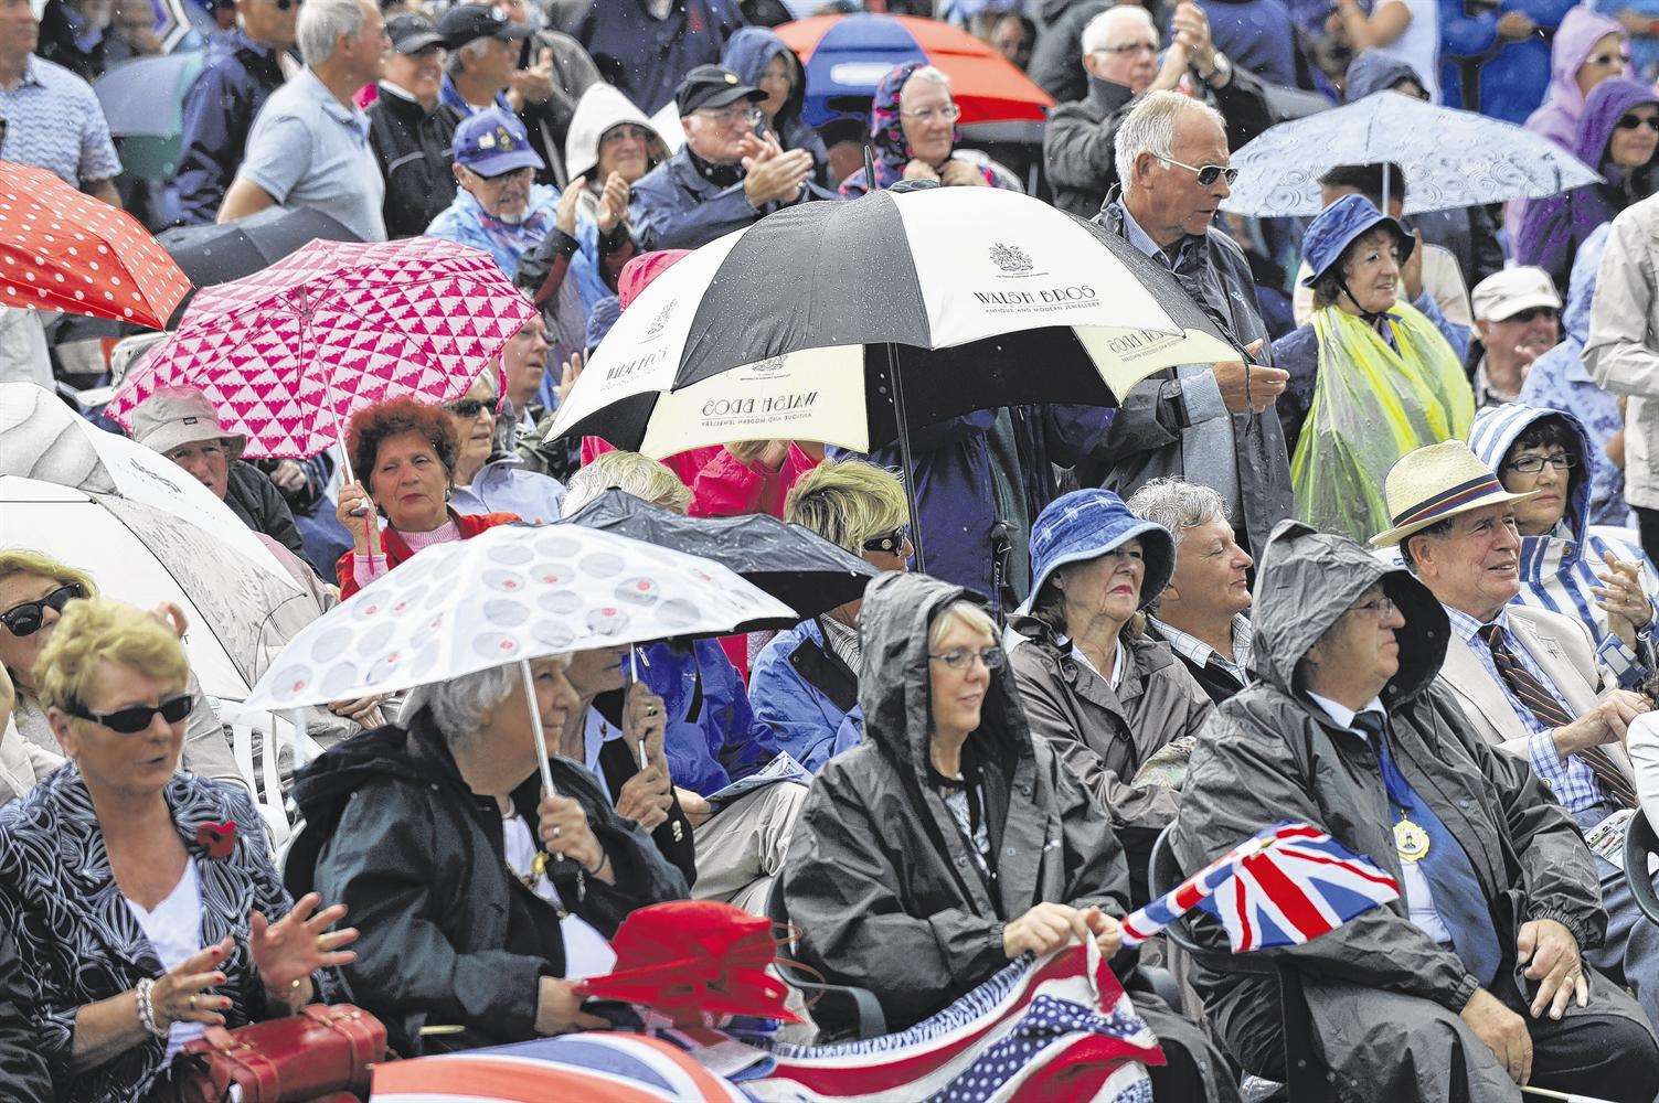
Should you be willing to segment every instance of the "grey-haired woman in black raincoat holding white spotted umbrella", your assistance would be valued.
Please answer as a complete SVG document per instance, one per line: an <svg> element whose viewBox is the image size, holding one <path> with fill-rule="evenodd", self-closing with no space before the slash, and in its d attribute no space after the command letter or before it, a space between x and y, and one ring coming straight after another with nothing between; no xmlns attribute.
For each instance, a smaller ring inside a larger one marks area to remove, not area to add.
<svg viewBox="0 0 1659 1103"><path fill-rule="evenodd" d="M529 665L557 733L577 707L567 660ZM347 975L397 1052L606 1027L571 982L611 969L606 940L630 911L687 894L592 775L549 765L556 793L541 793L514 663L411 690L398 723L297 775L305 829L287 881L348 902L363 952Z"/></svg>

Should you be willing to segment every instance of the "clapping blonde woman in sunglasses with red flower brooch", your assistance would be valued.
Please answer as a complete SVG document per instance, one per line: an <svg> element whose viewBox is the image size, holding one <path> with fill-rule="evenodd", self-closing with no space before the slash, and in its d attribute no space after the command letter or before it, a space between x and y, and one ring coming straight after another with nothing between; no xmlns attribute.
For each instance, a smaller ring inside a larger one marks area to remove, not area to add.
<svg viewBox="0 0 1659 1103"><path fill-rule="evenodd" d="M357 932L289 897L246 791L178 770L173 630L105 597L68 602L61 629L35 675L71 761L0 809L0 926L56 1100L146 1100L204 1028L314 1002Z"/></svg>

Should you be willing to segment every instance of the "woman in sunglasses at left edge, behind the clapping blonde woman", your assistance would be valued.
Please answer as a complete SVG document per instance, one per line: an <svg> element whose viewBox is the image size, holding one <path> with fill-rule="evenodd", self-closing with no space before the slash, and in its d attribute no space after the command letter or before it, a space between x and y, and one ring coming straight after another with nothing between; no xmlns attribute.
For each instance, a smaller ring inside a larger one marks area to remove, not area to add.
<svg viewBox="0 0 1659 1103"><path fill-rule="evenodd" d="M20 736L17 743L12 736L0 740L0 804L33 788L50 773L53 760L61 763L63 748L51 735L46 710L40 705L35 662L56 630L63 610L76 599L96 594L98 587L85 571L40 552L0 552L0 667L5 667L17 688L12 720ZM182 615L176 609L158 609L154 615L182 634ZM241 785L242 775L231 756L224 726L202 697L194 675L189 690L192 710L184 733L184 768L202 778ZM36 763L35 770L25 770L25 756Z"/></svg>

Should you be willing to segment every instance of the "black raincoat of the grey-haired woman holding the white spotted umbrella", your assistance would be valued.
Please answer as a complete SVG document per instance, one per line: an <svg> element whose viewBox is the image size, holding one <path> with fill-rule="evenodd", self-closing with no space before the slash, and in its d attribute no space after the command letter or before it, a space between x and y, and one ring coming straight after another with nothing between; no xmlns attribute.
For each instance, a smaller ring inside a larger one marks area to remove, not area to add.
<svg viewBox="0 0 1659 1103"><path fill-rule="evenodd" d="M615 886L554 862L559 897L611 937L645 904L687 896L685 877L619 819L594 776L551 760L559 793L581 801ZM534 824L538 775L513 791ZM387 725L324 751L294 780L305 829L285 862L292 892L345 904L362 935L343 969L353 1002L387 1023L403 1055L536 1037L539 977L564 975L559 914L503 859L501 809L461 780L431 717ZM420 1028L460 1025L423 1040Z"/></svg>

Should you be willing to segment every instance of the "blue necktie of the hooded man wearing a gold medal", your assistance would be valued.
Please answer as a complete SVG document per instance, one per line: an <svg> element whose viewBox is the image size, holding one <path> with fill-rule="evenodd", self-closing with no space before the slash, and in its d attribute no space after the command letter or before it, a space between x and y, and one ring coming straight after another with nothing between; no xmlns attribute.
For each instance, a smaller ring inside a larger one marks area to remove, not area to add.
<svg viewBox="0 0 1659 1103"><path fill-rule="evenodd" d="M1498 935L1493 929L1486 892L1480 886L1480 877L1475 876L1468 853L1400 773L1390 748L1394 733L1389 730L1387 718L1377 712L1362 712L1354 717L1354 728L1364 731L1370 745L1377 748L1377 756L1382 761L1382 781L1389 791L1394 814L1410 818L1428 836L1428 851L1417 862L1417 867L1428 881L1435 914L1440 916L1440 922L1452 935L1452 949L1457 950L1470 975L1480 984L1490 985L1503 962L1503 949L1498 945Z"/></svg>

